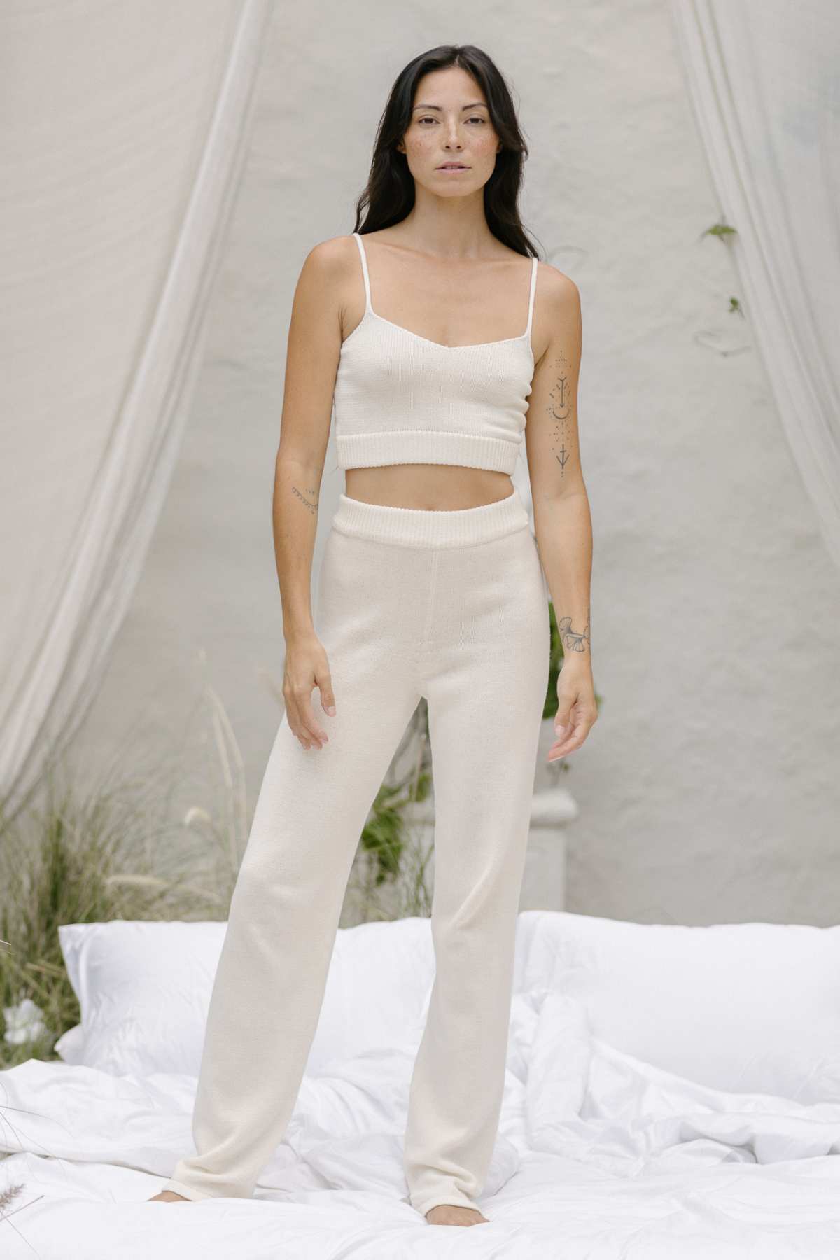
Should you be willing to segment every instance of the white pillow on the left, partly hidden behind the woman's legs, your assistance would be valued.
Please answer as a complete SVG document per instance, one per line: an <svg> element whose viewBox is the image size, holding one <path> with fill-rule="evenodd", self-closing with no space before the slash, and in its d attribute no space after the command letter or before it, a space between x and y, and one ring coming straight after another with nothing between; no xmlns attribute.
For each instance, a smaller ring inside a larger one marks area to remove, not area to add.
<svg viewBox="0 0 840 1260"><path fill-rule="evenodd" d="M225 929L130 920L59 926L82 1011L81 1026L57 1042L62 1057L117 1076L196 1076ZM306 1072L418 1041L432 978L427 919L339 929Z"/></svg>

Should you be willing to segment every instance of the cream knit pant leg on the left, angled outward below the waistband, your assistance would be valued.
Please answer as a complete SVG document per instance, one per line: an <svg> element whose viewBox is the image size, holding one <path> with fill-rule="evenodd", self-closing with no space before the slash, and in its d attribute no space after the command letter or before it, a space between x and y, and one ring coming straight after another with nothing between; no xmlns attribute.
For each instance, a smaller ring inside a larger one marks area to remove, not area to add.
<svg viewBox="0 0 840 1260"><path fill-rule="evenodd" d="M196 1154L162 1187L188 1198L251 1196L293 1111L359 837L419 699L413 575L393 552L327 537L316 630L336 713L314 690L329 742L305 750L283 714L268 759L208 1012Z"/></svg>

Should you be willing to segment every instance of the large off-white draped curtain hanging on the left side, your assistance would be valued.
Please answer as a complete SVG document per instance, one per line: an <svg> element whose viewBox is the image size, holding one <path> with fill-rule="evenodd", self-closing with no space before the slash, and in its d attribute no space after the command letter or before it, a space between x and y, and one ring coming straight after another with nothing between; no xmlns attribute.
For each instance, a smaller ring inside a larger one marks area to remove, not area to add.
<svg viewBox="0 0 840 1260"><path fill-rule="evenodd" d="M0 799L77 728L178 455L271 0L0 8Z"/></svg>

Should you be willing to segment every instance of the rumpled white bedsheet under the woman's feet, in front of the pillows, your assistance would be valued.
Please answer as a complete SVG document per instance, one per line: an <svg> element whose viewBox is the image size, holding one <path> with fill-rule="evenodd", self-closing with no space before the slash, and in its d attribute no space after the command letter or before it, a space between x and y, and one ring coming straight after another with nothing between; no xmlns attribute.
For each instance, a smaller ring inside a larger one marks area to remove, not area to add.
<svg viewBox="0 0 840 1260"><path fill-rule="evenodd" d="M151 1203L191 1144L195 1079L29 1060L0 1072L3 1260L836 1260L840 1104L688 1081L592 1036L550 990L511 1009L489 1223L403 1198L416 1043L306 1076L253 1200Z"/></svg>

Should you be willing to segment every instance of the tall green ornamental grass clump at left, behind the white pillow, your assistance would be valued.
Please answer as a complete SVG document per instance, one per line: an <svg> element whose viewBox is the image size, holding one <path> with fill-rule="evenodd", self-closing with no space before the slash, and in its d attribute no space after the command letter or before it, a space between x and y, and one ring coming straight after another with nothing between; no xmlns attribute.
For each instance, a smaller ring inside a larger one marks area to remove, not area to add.
<svg viewBox="0 0 840 1260"><path fill-rule="evenodd" d="M199 741L217 753L200 789L208 809L178 808L188 772L171 737L155 736L149 752L135 731L88 788L64 753L48 759L25 809L0 806L0 997L13 1011L29 998L44 1026L14 1043L4 1017L1 1067L54 1057L58 1037L79 1022L59 925L225 919L246 842L242 757L210 687L188 732L196 719Z"/></svg>

